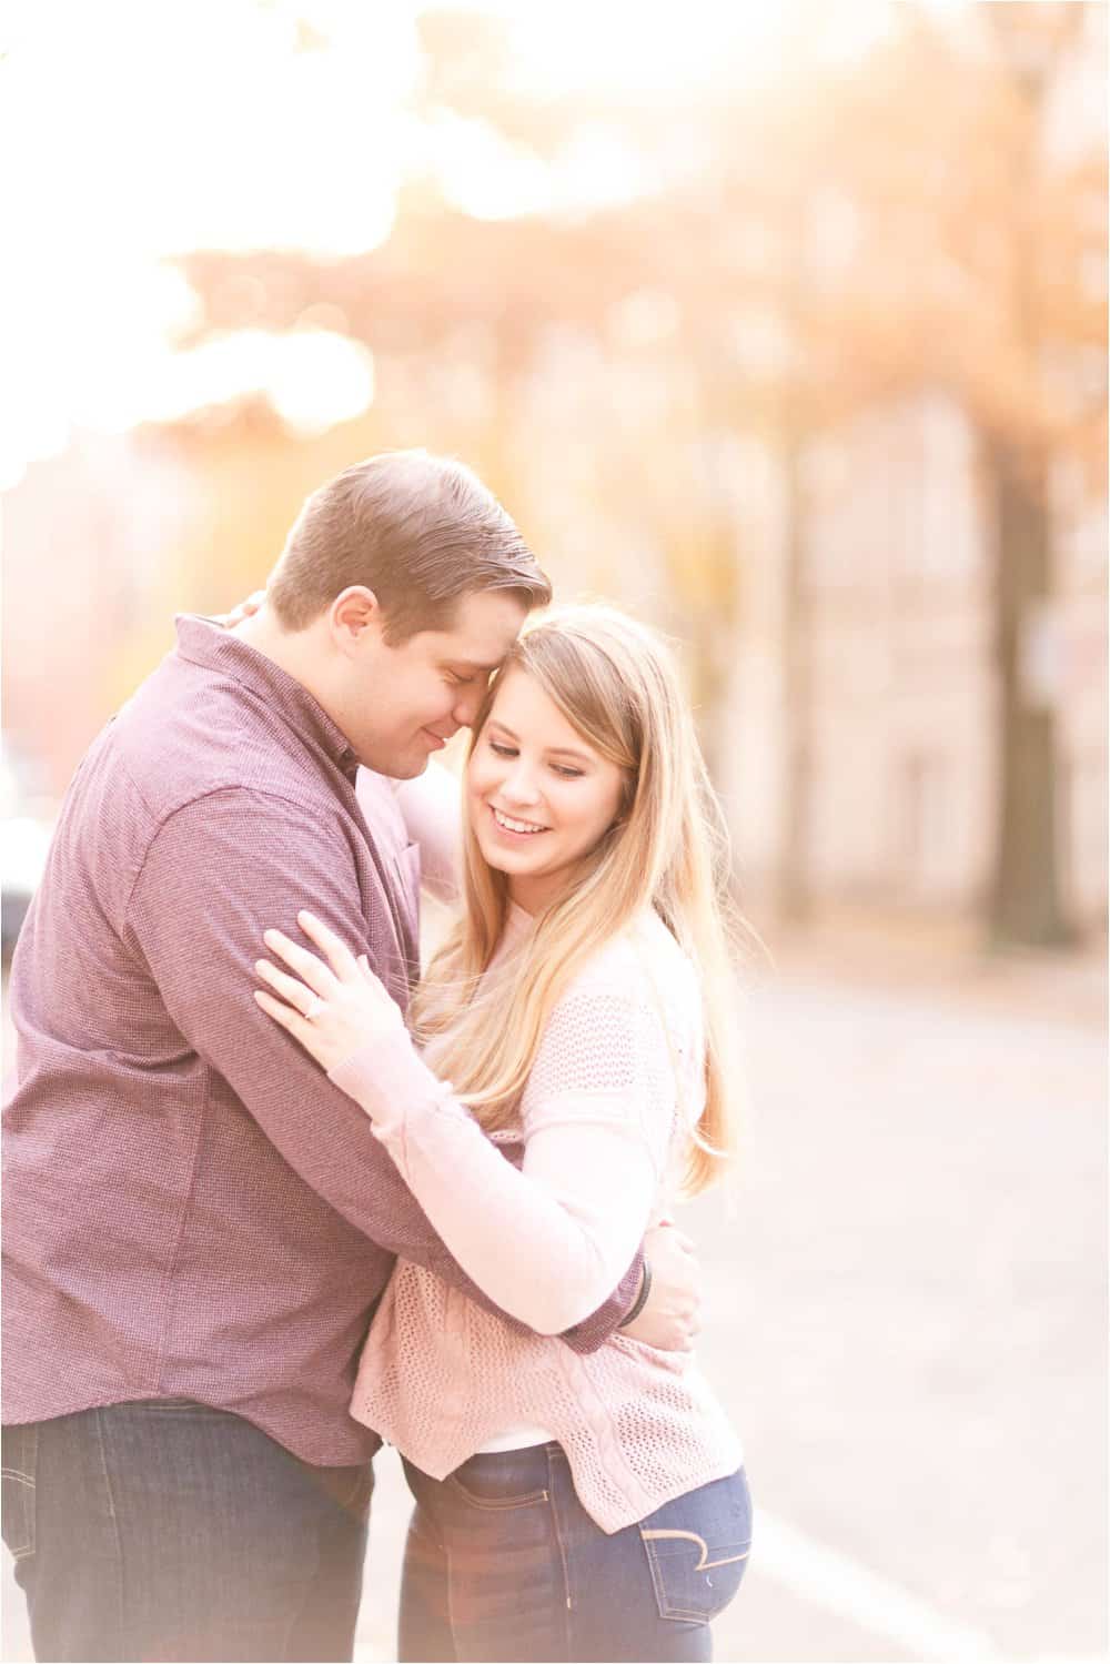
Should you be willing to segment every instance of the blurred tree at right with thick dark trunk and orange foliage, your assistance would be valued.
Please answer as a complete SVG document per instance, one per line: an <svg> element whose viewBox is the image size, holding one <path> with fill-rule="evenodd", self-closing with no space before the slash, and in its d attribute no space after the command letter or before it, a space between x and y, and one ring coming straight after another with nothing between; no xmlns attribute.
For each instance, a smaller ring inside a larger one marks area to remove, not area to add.
<svg viewBox="0 0 1110 1664"><path fill-rule="evenodd" d="M845 353L855 374L879 359L897 384L947 386L977 428L999 676L989 929L1063 943L1052 478L1062 454L1100 474L1107 414L1105 136L1058 143L1088 7L897 17L840 111L860 221Z"/></svg>

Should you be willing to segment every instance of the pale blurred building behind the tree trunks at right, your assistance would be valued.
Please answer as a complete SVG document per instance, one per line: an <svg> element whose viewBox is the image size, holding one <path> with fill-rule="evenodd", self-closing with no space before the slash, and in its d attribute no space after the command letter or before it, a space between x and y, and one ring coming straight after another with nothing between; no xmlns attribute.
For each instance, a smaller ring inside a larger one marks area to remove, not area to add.
<svg viewBox="0 0 1110 1664"><path fill-rule="evenodd" d="M967 421L940 394L875 408L814 446L804 478L807 890L817 902L977 910L997 834L995 549ZM1065 899L1073 924L1097 929L1107 905L1107 504L1062 468L1053 514L1055 597L1030 656L1058 721ZM774 531L772 504L766 522ZM757 887L774 884L789 812L774 537L767 561L727 721L737 844Z"/></svg>

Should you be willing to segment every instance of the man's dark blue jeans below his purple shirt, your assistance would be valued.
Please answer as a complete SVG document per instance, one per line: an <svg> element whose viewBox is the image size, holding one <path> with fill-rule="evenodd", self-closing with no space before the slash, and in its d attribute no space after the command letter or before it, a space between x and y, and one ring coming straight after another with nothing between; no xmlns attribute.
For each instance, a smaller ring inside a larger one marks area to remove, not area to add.
<svg viewBox="0 0 1110 1664"><path fill-rule="evenodd" d="M373 1469L146 1399L3 1429L37 1659L349 1659Z"/></svg>

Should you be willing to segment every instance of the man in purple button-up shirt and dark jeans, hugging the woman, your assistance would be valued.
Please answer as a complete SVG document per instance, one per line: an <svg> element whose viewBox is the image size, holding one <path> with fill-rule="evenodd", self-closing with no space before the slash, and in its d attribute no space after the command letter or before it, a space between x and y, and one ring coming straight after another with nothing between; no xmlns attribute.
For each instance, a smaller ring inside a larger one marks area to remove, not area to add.
<svg viewBox="0 0 1110 1664"><path fill-rule="evenodd" d="M251 967L311 905L404 1007L416 864L356 767L418 775L548 599L468 469L371 458L308 499L240 631L178 621L77 772L15 957L5 1115L3 1534L40 1659L351 1656L373 1305L394 1255L484 1296ZM637 1258L567 1345L644 1281Z"/></svg>

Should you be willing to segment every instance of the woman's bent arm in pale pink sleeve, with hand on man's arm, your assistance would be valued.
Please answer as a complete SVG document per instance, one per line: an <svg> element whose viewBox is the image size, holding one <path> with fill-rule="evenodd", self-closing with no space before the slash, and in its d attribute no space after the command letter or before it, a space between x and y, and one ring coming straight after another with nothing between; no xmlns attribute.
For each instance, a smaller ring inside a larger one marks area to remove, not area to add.
<svg viewBox="0 0 1110 1664"><path fill-rule="evenodd" d="M308 915L301 924L331 970L268 934L268 947L305 982L270 968L266 982L283 998L258 993L260 1003L366 1110L478 1286L539 1333L579 1323L627 1270L656 1196L674 1103L656 1012L624 992L582 993L556 1010L533 1070L538 1085L524 1095L518 1171L451 1083L419 1060L376 978Z"/></svg>

